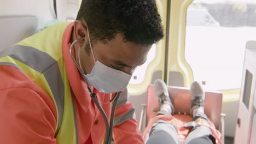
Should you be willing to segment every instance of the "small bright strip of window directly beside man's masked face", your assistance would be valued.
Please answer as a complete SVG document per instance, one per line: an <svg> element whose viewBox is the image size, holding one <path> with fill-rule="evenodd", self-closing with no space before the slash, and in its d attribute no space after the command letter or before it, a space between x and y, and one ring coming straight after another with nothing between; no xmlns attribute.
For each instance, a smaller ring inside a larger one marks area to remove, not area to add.
<svg viewBox="0 0 256 144"><path fill-rule="evenodd" d="M129 82L130 85L138 85L139 83L142 83L142 81L145 78L148 65L155 58L155 52L156 52L156 44L153 44L151 49L148 52L147 61L141 66L137 67L136 70L133 72L133 75Z"/></svg>

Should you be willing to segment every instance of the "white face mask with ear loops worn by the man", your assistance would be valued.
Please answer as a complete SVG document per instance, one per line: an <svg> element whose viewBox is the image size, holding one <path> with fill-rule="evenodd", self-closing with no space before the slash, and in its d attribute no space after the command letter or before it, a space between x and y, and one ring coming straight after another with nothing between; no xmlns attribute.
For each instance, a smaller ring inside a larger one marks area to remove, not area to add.
<svg viewBox="0 0 256 144"><path fill-rule="evenodd" d="M89 38L89 44L91 47L89 30L88 30L88 38ZM98 89L98 91L101 91L103 93L114 93L114 92L123 91L127 87L132 75L126 74L120 70L107 67L100 61L96 62L94 57L94 52L92 51L92 47L91 47L91 53L92 53L92 57L94 58L95 64L91 70L91 73L85 75L86 79L88 79L90 84L94 86L96 89ZM78 53L78 56L79 56L79 53ZM79 64L80 64L80 56L78 58L79 58ZM82 68L81 65L80 65L80 68Z"/></svg>

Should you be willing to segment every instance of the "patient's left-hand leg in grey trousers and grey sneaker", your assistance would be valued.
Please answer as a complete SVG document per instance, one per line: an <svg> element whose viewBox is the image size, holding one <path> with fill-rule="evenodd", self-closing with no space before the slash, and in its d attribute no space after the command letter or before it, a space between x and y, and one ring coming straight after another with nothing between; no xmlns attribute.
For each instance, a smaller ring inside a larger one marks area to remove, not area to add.
<svg viewBox="0 0 256 144"><path fill-rule="evenodd" d="M160 111L158 115L172 115L174 106L168 94L168 89L164 81L156 80L154 83L155 95L158 96ZM177 130L173 124L162 119L158 119L150 131L147 144L173 143L178 144Z"/></svg>

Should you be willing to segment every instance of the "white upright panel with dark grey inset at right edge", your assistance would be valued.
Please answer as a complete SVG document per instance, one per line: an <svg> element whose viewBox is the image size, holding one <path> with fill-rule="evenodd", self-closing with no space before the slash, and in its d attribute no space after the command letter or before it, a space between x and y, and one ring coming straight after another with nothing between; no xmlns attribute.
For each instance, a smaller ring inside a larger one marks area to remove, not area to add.
<svg viewBox="0 0 256 144"><path fill-rule="evenodd" d="M248 41L246 46L243 81L235 132L235 144L253 143L253 141L255 143L256 41Z"/></svg>

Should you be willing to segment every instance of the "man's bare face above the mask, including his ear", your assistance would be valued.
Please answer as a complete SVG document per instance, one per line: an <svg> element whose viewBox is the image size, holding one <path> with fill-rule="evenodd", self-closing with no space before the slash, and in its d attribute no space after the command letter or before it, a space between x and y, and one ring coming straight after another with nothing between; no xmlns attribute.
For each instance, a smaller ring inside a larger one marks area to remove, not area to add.
<svg viewBox="0 0 256 144"><path fill-rule="evenodd" d="M89 45L88 28L83 22L75 21L71 41L82 38L84 35L84 40L75 44L75 55L78 55L78 47L80 47L82 68L85 74L90 74L95 62ZM120 33L107 43L99 40L92 41L91 39L92 51L95 61L100 61L110 68L124 71L127 74L132 74L138 65L146 62L151 45L134 44L129 41L125 42L123 39L124 36ZM78 57L75 58L78 62Z"/></svg>

